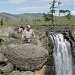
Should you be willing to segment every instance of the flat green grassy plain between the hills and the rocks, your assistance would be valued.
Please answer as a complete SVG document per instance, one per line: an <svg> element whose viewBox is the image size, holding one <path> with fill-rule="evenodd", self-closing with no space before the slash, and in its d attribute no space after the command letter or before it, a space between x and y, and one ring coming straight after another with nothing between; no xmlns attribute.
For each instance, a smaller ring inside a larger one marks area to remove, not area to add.
<svg viewBox="0 0 75 75"><path fill-rule="evenodd" d="M29 20L29 21L23 21L23 22L4 22L4 25L2 27L7 27L7 26L25 26L25 25L50 25L51 21L45 22L44 20L41 21L33 21L33 20ZM54 20L53 24L59 24L59 25L63 25L63 24L69 24L69 25L75 25L75 21L74 18L72 18L70 21L67 20L66 18L56 18Z"/></svg>

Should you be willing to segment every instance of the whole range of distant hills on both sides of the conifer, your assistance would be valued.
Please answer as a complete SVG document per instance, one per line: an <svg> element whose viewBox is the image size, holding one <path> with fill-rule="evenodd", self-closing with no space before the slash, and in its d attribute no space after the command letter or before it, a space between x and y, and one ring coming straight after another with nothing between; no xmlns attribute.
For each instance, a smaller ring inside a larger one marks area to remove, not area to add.
<svg viewBox="0 0 75 75"><path fill-rule="evenodd" d="M0 18L2 18L5 21L25 21L25 20L37 20L37 19L44 19L43 18L43 13L23 13L23 14L10 14L10 13L6 13L6 12L2 12L0 13ZM54 16L55 21L59 22L59 21L64 21L66 20L64 16L60 16L60 18L58 16ZM75 16L72 17L72 20L75 19Z"/></svg>

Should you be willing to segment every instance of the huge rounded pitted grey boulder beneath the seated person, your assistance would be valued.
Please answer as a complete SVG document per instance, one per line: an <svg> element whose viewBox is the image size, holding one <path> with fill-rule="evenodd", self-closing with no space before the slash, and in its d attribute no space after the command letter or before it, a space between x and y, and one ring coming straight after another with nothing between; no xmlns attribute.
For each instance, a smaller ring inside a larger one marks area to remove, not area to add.
<svg viewBox="0 0 75 75"><path fill-rule="evenodd" d="M35 70L43 66L48 58L48 51L39 45L10 44L0 48L9 62L21 70Z"/></svg>

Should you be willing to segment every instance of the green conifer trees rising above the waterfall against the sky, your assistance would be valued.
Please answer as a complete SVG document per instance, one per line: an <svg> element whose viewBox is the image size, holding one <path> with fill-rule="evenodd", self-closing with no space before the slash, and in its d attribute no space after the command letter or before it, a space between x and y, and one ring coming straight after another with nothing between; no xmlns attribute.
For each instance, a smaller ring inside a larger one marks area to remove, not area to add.
<svg viewBox="0 0 75 75"><path fill-rule="evenodd" d="M56 3L58 4L58 6L56 6ZM50 11L45 14L43 13L43 16L44 16L44 20L45 21L51 21L51 23L53 24L54 23L54 15L56 13L56 8L59 8L59 17L62 14L65 14L65 17L68 19L68 20L71 20L71 11L70 10L63 10L63 9L60 9L60 5L62 4L60 1L56 1L56 0L53 0L50 4Z"/></svg>

